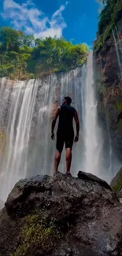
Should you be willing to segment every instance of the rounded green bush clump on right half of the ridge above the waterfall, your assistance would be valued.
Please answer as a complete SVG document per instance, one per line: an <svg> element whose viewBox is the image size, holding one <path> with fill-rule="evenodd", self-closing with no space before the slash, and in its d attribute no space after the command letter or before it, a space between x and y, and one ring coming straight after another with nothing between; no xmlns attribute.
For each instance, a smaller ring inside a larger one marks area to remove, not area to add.
<svg viewBox="0 0 122 256"><path fill-rule="evenodd" d="M36 39L37 45L37 39ZM87 59L89 48L83 43L72 45L65 39L38 40L38 46L33 49L28 68L35 72L36 76L45 72L59 72L74 69Z"/></svg>

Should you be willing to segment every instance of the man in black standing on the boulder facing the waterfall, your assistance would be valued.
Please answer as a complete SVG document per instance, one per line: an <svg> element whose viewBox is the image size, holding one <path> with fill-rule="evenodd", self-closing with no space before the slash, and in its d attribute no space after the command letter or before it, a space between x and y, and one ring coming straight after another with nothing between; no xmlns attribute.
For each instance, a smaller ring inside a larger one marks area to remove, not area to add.
<svg viewBox="0 0 122 256"><path fill-rule="evenodd" d="M76 109L70 106L72 99L65 97L62 105L57 108L54 120L52 122L51 139L54 140L54 128L59 116L57 128L57 152L54 161L54 174L57 173L58 166L61 160L61 153L64 147L66 148L66 174L71 176L70 168L72 162L72 145L74 142L73 118L76 121L76 137L75 143L79 141L79 117Z"/></svg>

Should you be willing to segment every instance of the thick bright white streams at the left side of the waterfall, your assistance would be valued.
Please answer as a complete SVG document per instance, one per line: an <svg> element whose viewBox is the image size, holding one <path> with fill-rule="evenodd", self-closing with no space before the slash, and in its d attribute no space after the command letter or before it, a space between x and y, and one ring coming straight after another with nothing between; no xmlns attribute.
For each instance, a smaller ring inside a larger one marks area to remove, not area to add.
<svg viewBox="0 0 122 256"><path fill-rule="evenodd" d="M38 88L37 81L34 83L34 80L30 80L26 88L24 82L17 83L11 94L6 131L9 138L6 141L7 152L2 163L2 198L5 191L8 193L17 180L27 175L28 143Z"/></svg>

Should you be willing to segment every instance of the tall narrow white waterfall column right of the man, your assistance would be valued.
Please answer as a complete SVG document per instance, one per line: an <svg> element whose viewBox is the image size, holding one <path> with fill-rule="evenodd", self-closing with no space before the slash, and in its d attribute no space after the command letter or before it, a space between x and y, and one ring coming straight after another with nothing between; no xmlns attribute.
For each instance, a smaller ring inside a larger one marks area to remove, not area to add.
<svg viewBox="0 0 122 256"><path fill-rule="evenodd" d="M85 172L102 176L102 137L98 127L98 102L95 98L93 54L87 59L87 78L85 83Z"/></svg>

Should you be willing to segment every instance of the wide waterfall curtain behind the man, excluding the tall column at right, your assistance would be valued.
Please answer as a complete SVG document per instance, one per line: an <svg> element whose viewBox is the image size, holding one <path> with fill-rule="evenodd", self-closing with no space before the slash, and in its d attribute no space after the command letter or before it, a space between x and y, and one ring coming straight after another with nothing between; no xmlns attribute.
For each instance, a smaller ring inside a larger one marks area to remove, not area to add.
<svg viewBox="0 0 122 256"><path fill-rule="evenodd" d="M82 121L82 84L82 68L40 80L0 80L0 132L6 137L0 155L0 198L6 200L14 184L24 177L53 175L56 142L50 139L51 121L65 95L72 97ZM75 144L74 176L82 166L82 152L83 144ZM65 172L65 155L60 170Z"/></svg>

